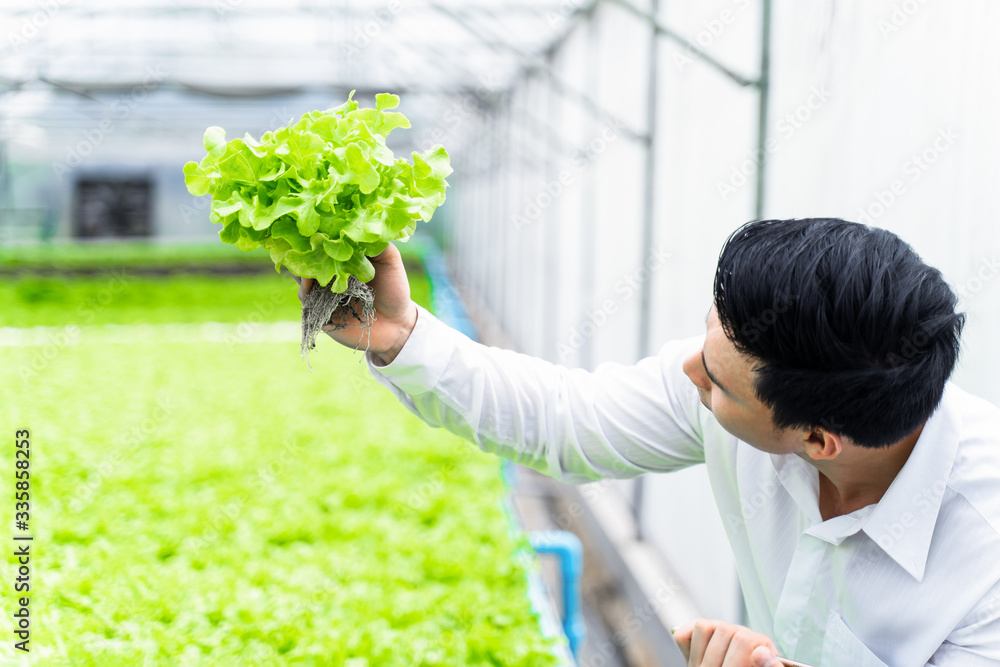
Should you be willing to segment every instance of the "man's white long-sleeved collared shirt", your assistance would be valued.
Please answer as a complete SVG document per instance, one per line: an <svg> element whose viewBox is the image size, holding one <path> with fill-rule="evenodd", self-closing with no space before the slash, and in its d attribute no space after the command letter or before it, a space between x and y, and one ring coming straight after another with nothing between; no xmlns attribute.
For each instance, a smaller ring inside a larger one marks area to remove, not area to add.
<svg viewBox="0 0 1000 667"><path fill-rule="evenodd" d="M1000 665L1000 410L949 384L874 505L823 521L816 468L724 430L681 369L702 338L594 372L473 342L419 308L372 375L414 414L556 479L705 463L749 625L819 667Z"/></svg>

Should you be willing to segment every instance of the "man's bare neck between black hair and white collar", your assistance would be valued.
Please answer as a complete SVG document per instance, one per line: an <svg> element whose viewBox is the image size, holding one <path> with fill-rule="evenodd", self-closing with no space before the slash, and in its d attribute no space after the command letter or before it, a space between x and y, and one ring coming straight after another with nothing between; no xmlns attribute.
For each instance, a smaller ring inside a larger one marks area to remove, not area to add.
<svg viewBox="0 0 1000 667"><path fill-rule="evenodd" d="M896 479L924 425L880 449L847 444L832 460L804 458L819 470L819 513L824 521L877 503Z"/></svg>

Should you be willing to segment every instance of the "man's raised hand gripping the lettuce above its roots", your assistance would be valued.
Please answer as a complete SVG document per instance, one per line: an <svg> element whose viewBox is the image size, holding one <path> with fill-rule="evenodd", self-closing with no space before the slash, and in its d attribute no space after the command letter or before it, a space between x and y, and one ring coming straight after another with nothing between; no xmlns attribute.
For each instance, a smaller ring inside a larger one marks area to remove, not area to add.
<svg viewBox="0 0 1000 667"><path fill-rule="evenodd" d="M354 316L340 312L333 314L333 322L347 327L334 331L333 326L323 327L323 331L342 345L351 348L368 347L382 363L391 363L403 348L406 339L417 323L417 306L410 299L410 283L406 279L403 259L396 246L389 244L382 254L369 258L375 267L375 277L368 283L375 290L375 321L366 334L361 330L361 322ZM312 278L299 278L292 274L299 284L299 300L316 282ZM342 310L342 309L341 309Z"/></svg>

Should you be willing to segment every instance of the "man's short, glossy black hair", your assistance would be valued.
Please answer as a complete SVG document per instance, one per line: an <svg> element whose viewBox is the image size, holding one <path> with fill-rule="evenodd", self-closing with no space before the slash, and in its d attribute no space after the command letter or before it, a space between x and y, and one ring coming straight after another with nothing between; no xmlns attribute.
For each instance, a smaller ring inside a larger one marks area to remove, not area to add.
<svg viewBox="0 0 1000 667"><path fill-rule="evenodd" d="M941 272L909 244L837 218L743 225L719 256L714 294L775 427L824 427L864 447L897 442L934 412L965 324Z"/></svg>

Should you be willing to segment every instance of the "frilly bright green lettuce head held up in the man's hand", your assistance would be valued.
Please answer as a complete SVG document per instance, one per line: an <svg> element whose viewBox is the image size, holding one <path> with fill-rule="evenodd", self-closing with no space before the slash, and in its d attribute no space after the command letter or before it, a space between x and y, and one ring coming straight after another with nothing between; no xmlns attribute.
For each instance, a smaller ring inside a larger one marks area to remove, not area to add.
<svg viewBox="0 0 1000 667"><path fill-rule="evenodd" d="M353 99L313 111L260 140L226 141L221 127L205 131L208 154L184 165L188 191L212 195L210 219L219 237L243 250L263 246L275 270L315 278L343 292L351 275L375 276L368 257L406 240L445 199L452 173L448 153L434 146L396 158L385 138L410 127L399 97L375 96L375 108ZM334 280L334 278L336 278Z"/></svg>

